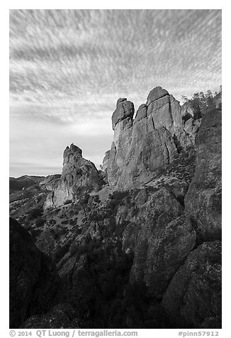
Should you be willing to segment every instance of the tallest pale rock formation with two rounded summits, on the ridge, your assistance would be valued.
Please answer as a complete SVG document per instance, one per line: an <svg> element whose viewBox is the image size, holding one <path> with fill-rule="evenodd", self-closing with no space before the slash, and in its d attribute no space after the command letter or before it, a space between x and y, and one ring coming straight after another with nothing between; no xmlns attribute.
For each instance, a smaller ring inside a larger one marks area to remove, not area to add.
<svg viewBox="0 0 231 338"><path fill-rule="evenodd" d="M193 114L185 121L179 102L162 87L152 89L134 120L133 114L133 103L118 99L107 163L108 183L118 190L152 180L181 149L194 145L201 122Z"/></svg>

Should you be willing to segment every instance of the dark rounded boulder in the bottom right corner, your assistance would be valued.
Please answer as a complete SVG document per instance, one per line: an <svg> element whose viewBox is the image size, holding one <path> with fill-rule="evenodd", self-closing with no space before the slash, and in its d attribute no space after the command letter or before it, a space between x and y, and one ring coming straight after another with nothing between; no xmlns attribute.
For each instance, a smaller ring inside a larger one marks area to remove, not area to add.
<svg viewBox="0 0 231 338"><path fill-rule="evenodd" d="M207 326L208 318L221 315L220 241L203 243L188 256L162 303L176 327Z"/></svg>

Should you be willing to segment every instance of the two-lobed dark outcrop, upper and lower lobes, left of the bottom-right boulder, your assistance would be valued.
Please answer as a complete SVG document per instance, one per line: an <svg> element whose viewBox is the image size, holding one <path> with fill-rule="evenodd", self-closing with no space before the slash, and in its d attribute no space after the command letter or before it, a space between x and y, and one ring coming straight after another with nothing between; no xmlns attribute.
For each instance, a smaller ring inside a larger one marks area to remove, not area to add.
<svg viewBox="0 0 231 338"><path fill-rule="evenodd" d="M150 295L155 298L162 298L169 280L196 243L195 231L187 217L179 217L182 212L180 203L168 190L159 190L139 210L137 219L133 219L140 224L135 244L131 245L131 233L128 231L131 226L123 234L126 249L134 247L130 281L144 281Z"/></svg>

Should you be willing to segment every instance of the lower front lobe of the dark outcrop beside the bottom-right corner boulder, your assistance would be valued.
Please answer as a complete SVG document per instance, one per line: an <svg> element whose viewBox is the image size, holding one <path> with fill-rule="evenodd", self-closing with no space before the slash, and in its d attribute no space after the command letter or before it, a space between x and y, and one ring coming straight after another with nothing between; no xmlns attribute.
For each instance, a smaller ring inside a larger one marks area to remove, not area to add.
<svg viewBox="0 0 231 338"><path fill-rule="evenodd" d="M192 251L196 242L195 231L191 224L186 222L184 216L174 219L169 224L165 222L159 225L155 231L152 231L152 234L146 240L147 253L145 255L145 263L142 262L142 266L139 266L139 253L142 253L140 246L142 249L144 242L137 244L131 271L132 282L134 273L138 272L138 275L140 272L142 273L150 295L156 299L162 298L169 281ZM139 276L135 276L135 280L139 280L137 277Z"/></svg>

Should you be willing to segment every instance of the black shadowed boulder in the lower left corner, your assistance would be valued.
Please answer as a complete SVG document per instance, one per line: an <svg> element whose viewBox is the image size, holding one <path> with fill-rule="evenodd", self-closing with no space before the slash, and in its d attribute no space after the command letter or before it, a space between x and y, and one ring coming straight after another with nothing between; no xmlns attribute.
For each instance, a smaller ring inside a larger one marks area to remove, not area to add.
<svg viewBox="0 0 231 338"><path fill-rule="evenodd" d="M10 219L10 327L17 328L30 315L39 315L55 304L60 279L50 258L32 237Z"/></svg>

